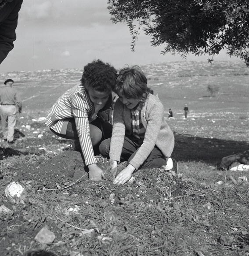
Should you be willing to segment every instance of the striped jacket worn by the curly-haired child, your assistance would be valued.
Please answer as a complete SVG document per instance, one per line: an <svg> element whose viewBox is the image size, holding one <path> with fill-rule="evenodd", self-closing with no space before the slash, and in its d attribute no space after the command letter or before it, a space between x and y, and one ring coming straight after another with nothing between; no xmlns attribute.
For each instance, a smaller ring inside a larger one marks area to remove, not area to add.
<svg viewBox="0 0 249 256"><path fill-rule="evenodd" d="M104 111L112 103L110 96ZM47 114L46 125L59 134L66 134L69 119L76 122L79 143L83 152L86 165L97 163L94 157L93 146L90 139L89 119L94 114L94 104L90 100L83 85L75 85L66 91Z"/></svg>

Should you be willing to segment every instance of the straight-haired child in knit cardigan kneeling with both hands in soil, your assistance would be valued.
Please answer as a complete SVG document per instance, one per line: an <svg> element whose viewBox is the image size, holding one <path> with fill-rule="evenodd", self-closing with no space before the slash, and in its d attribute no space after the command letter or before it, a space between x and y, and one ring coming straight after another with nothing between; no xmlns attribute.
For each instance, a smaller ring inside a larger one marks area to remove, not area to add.
<svg viewBox="0 0 249 256"><path fill-rule="evenodd" d="M114 173L119 162L127 161L114 184L124 184L138 169L166 166L166 170L177 172L177 162L170 158L173 132L165 121L162 103L150 93L140 67L120 70L113 91L119 99L114 106L112 138L102 141L99 148L110 158Z"/></svg>

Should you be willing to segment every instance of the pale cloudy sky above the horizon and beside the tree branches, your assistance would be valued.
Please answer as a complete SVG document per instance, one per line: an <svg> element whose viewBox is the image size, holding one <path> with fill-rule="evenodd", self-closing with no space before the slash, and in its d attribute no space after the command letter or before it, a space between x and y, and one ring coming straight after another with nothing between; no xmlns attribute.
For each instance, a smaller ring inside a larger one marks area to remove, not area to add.
<svg viewBox="0 0 249 256"><path fill-rule="evenodd" d="M162 55L142 31L135 52L125 23L113 24L107 0L24 0L19 12L14 49L0 72L80 68L101 59L119 69L180 61L179 55ZM209 56L189 55L187 60L207 61ZM222 52L215 60L234 60ZM184 60L183 60L184 61Z"/></svg>

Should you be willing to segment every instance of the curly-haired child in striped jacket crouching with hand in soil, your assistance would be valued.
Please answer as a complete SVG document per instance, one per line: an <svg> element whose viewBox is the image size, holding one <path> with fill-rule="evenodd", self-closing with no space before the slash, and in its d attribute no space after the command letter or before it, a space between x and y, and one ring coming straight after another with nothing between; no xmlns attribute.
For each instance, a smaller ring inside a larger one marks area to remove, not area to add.
<svg viewBox="0 0 249 256"><path fill-rule="evenodd" d="M81 84L65 92L47 114L46 125L66 139L80 145L91 180L101 180L103 171L97 166L94 148L112 134L112 125L98 118L112 104L112 88L117 71L108 63L94 60L83 70Z"/></svg>

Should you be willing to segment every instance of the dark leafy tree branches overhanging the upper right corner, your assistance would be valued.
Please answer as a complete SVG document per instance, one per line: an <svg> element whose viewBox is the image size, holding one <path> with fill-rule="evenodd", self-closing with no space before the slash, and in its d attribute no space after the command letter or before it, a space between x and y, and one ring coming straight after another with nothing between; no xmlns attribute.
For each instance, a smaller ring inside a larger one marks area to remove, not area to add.
<svg viewBox="0 0 249 256"><path fill-rule="evenodd" d="M213 56L227 49L229 56L249 66L249 1L244 0L108 0L114 23L126 22L131 48L141 27L152 45L166 45L163 53Z"/></svg>

